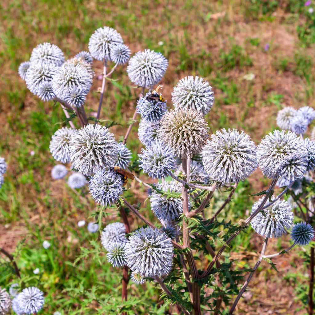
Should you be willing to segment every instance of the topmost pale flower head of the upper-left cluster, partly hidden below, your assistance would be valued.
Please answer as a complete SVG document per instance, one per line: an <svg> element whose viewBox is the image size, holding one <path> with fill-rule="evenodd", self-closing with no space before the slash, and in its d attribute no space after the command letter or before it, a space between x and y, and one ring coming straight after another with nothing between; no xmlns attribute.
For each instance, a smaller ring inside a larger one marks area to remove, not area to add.
<svg viewBox="0 0 315 315"><path fill-rule="evenodd" d="M32 50L30 61L32 64L44 63L61 66L65 62L65 56L58 46L42 43Z"/></svg>

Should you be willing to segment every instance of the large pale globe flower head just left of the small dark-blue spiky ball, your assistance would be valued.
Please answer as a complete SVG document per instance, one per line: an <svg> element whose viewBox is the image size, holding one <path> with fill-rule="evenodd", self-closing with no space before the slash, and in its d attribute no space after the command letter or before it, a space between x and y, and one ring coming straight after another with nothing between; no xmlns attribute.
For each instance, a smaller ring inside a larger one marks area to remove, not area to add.
<svg viewBox="0 0 315 315"><path fill-rule="evenodd" d="M257 210L264 198L256 201L252 207L252 214ZM272 200L276 199L272 196ZM293 225L293 212L290 204L278 199L271 206L260 211L250 222L256 233L266 238L281 237Z"/></svg>

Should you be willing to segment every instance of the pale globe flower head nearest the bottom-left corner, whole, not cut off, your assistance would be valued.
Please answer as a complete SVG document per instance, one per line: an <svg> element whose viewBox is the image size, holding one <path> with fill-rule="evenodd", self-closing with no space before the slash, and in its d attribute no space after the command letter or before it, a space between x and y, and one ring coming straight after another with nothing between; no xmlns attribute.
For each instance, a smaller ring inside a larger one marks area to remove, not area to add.
<svg viewBox="0 0 315 315"><path fill-rule="evenodd" d="M28 287L18 295L18 303L27 315L39 312L44 306L43 292L36 287Z"/></svg>

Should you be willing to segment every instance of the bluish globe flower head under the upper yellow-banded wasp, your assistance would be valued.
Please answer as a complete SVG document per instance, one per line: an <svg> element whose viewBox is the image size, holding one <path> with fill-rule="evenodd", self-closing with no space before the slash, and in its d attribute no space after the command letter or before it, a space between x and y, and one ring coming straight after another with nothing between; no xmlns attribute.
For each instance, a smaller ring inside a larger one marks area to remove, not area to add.
<svg viewBox="0 0 315 315"><path fill-rule="evenodd" d="M163 115L167 112L166 102L159 100L147 100L147 93L145 97L141 97L137 102L137 111L149 123L158 123Z"/></svg>

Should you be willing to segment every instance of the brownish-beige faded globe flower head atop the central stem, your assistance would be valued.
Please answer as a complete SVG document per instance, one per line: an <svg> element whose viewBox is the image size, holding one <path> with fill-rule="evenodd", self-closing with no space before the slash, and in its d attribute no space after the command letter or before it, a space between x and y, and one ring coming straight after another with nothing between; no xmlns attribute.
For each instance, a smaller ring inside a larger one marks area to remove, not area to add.
<svg viewBox="0 0 315 315"><path fill-rule="evenodd" d="M160 122L158 139L179 158L199 153L208 139L207 122L194 109L167 112Z"/></svg>

